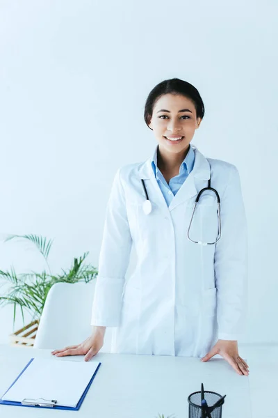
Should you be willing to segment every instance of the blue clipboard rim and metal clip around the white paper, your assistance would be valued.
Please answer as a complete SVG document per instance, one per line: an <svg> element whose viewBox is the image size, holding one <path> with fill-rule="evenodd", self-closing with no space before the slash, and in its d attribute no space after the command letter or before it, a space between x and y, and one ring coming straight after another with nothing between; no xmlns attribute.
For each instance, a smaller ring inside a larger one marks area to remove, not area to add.
<svg viewBox="0 0 278 418"><path fill-rule="evenodd" d="M26 364L24 369L22 369L22 371L19 373L19 375L17 376L15 381L12 383L12 385L10 385L10 387L8 387L6 392L2 395L2 398L10 390L10 388L13 387L13 385L15 385L15 382L17 382L17 380L20 378L20 376L22 376L24 371L26 371L26 369L28 368L28 366L30 366L30 364L33 362L33 360L34 360L34 357L31 358L31 360ZM75 407L56 405L57 402L58 402L56 399L44 399L44 398L35 398L35 399L24 398L20 402L4 401L2 398L0 398L0 405L14 405L14 406L27 407L27 408L48 408L48 409L53 408L53 409L57 409L57 410L74 410L74 411L77 411L77 410L80 409L81 404L82 404L88 390L90 389L90 385L92 385L92 381L94 380L95 376L97 375L97 371L99 371L100 366L101 366L101 362L99 362L97 368L95 369L95 373L93 373L92 378L90 378L90 381L88 382L88 385L85 387L85 390L83 391L83 394L79 398L79 401L78 401L78 403L76 404Z"/></svg>

